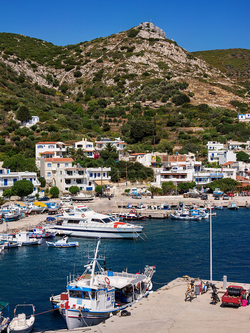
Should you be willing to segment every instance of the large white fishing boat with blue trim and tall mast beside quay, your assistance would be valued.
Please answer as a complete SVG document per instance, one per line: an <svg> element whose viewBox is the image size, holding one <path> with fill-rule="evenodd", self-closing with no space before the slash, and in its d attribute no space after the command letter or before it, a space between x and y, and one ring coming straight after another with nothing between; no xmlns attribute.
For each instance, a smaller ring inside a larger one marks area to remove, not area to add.
<svg viewBox="0 0 250 333"><path fill-rule="evenodd" d="M68 294L64 296L67 299L53 305L59 307L69 330L98 325L151 292L155 266L146 266L142 274L107 271L105 257L97 257L99 244L100 239L94 257L89 257L84 266L85 272L81 276L69 276ZM103 261L104 268L100 261ZM60 298L60 295L55 298Z"/></svg>

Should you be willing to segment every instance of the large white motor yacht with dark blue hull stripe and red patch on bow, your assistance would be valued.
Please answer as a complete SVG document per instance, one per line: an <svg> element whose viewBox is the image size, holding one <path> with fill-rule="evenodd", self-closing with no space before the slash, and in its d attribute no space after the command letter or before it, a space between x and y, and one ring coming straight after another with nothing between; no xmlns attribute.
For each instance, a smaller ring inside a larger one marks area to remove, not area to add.
<svg viewBox="0 0 250 333"><path fill-rule="evenodd" d="M74 206L70 213L61 209L61 213L62 222L46 224L45 230L79 237L133 239L145 230L141 225L120 222L112 216L96 213L85 205Z"/></svg>

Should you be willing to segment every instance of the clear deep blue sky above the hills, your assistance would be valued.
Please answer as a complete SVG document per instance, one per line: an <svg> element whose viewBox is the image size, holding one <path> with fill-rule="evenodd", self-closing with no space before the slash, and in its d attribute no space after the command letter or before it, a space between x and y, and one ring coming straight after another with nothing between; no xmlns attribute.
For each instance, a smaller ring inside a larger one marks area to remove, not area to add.
<svg viewBox="0 0 250 333"><path fill-rule="evenodd" d="M186 50L250 49L249 1L1 0L0 32L75 44L152 22Z"/></svg>

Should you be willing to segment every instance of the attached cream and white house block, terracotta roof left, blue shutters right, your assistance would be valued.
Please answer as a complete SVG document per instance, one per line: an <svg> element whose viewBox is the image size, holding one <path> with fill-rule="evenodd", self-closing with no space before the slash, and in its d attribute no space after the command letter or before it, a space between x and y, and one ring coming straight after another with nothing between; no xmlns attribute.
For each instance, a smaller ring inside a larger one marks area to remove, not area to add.
<svg viewBox="0 0 250 333"><path fill-rule="evenodd" d="M72 166L72 162L71 158L41 158L41 176L62 192L72 185L77 185L80 191L92 191L101 184L109 188L111 168Z"/></svg>

